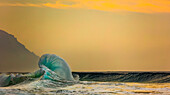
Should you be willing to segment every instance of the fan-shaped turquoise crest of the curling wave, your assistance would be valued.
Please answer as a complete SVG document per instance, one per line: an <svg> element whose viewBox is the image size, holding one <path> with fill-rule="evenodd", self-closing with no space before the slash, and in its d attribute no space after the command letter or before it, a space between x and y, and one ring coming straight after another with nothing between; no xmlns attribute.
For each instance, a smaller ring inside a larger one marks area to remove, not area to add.
<svg viewBox="0 0 170 95"><path fill-rule="evenodd" d="M55 79L55 76L57 76L62 80L74 80L69 65L59 56L45 54L40 58L38 64L40 69L45 71L43 79L51 79L51 77Z"/></svg>

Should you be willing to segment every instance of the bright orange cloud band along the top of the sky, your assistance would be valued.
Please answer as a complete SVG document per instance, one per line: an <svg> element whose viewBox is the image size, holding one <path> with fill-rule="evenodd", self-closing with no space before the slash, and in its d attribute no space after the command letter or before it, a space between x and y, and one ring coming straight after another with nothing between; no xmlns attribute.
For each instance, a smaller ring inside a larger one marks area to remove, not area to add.
<svg viewBox="0 0 170 95"><path fill-rule="evenodd" d="M90 9L109 12L170 13L170 0L49 0L49 2L0 3L0 6L50 7L56 9Z"/></svg>

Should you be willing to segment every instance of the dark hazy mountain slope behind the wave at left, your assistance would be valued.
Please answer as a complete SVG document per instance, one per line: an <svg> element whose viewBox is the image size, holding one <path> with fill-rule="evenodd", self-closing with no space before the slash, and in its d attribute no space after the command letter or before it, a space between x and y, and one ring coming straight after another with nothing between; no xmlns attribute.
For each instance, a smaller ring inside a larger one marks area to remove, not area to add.
<svg viewBox="0 0 170 95"><path fill-rule="evenodd" d="M0 72L29 72L38 68L39 57L17 39L0 30Z"/></svg>

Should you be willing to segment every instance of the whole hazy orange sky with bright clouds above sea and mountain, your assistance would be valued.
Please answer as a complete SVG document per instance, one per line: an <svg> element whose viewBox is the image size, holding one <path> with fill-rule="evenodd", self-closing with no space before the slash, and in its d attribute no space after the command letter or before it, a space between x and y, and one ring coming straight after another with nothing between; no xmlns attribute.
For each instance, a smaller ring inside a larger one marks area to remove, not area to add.
<svg viewBox="0 0 170 95"><path fill-rule="evenodd" d="M169 0L1 0L0 28L73 71L170 70Z"/></svg>

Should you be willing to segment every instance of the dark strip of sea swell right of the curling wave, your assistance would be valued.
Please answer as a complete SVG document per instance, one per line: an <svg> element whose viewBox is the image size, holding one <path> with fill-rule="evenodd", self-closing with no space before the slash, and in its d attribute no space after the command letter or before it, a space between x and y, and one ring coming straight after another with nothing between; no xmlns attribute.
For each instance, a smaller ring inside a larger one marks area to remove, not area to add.
<svg viewBox="0 0 170 95"><path fill-rule="evenodd" d="M80 80L102 82L170 83L170 72L73 72Z"/></svg>

